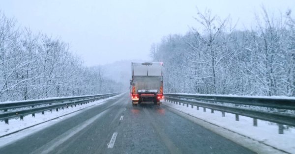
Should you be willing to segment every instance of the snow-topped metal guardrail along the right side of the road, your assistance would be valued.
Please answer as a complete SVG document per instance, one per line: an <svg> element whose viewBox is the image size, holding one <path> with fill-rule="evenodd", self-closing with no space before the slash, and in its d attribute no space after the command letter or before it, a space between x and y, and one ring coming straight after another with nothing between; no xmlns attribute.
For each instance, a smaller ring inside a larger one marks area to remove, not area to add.
<svg viewBox="0 0 295 154"><path fill-rule="evenodd" d="M239 115L250 117L253 118L253 126L257 126L257 119L274 122L278 124L280 134L283 133L283 125L295 127L295 114L281 112L282 110L294 111L295 99L173 93L165 93L164 97L171 103L179 103L179 105L186 103L187 107L189 104L192 107L195 105L197 109L199 106L203 107L204 112L206 112L206 108L211 109L211 113L214 113L214 110L221 111L223 117L225 112L236 114L236 121L239 121Z"/></svg>

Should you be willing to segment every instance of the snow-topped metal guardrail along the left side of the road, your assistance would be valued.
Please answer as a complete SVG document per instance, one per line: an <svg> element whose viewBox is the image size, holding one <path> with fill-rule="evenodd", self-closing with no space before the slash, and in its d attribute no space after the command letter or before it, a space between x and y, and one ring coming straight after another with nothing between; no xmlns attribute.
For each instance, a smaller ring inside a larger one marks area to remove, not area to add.
<svg viewBox="0 0 295 154"><path fill-rule="evenodd" d="M56 109L58 111L59 108L63 109L64 107L73 107L73 105L76 106L77 104L82 105L116 96L118 94L120 93L0 103L0 121L4 120L5 123L8 124L8 120L11 118L20 117L20 119L23 120L24 116L29 114L32 114L34 117L35 113L41 112L44 114L44 111L52 111L52 109Z"/></svg>

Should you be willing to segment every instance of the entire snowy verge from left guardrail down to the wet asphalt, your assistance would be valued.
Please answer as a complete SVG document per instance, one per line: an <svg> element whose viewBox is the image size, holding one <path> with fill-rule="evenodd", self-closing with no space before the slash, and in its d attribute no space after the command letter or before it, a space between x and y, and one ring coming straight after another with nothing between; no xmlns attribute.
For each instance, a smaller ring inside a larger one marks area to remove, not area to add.
<svg viewBox="0 0 295 154"><path fill-rule="evenodd" d="M117 95L114 97L118 97L121 95ZM74 116L86 108L90 108L91 106L95 106L95 105L101 105L105 103L107 100L113 99L114 97L110 97L104 100L95 101L95 102L91 102L91 103L87 103L83 105L77 105L76 107L72 107L72 108L69 107L68 109L67 108L64 108L63 110L60 109L59 111L56 111L56 110L52 110L52 112L46 111L44 115L42 115L41 113L36 113L35 117L32 117L32 115L28 115L24 117L24 121L20 120L20 118L9 119L9 125L5 124L4 121L1 121L0 136L6 135L24 128L28 128L32 126L34 127L32 128L32 130L27 130L27 129L22 130L23 136L22 135L15 136L14 134L12 134L9 136L1 137L0 141L2 139L3 140L5 139L5 142L0 142L0 147L3 146L4 144L7 144L8 142L15 140L16 138L19 138L20 136L24 137L32 133L33 131L39 130L44 127L48 127L50 125L55 124L56 122L59 122L60 120Z"/></svg>

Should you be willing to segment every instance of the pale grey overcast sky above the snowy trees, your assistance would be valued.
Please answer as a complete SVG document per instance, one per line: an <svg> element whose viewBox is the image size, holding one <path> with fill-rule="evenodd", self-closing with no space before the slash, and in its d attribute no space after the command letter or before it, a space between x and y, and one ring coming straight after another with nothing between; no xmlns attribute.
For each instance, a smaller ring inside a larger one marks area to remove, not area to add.
<svg viewBox="0 0 295 154"><path fill-rule="evenodd" d="M221 18L230 14L242 28L254 22L262 4L295 13L295 0L0 0L0 10L33 32L60 37L87 66L94 66L150 60L152 43L196 26L196 7Z"/></svg>

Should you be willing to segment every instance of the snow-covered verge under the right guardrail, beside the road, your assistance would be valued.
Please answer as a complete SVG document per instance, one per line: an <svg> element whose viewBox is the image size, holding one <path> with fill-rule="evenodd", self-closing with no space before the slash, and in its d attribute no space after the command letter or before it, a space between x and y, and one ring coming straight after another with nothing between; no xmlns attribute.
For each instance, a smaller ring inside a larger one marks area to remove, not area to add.
<svg viewBox="0 0 295 154"><path fill-rule="evenodd" d="M203 112L202 107L197 110L196 106L194 108L191 108L191 105L186 107L186 104L183 106L182 103L179 105L163 102L163 104L266 145L295 154L295 128L285 129L284 134L279 134L278 126L274 123L257 120L258 127L254 127L253 119L249 117L239 116L239 121L236 121L235 114L231 113L225 113L225 117L222 117L220 111L214 110L214 113L211 113L211 110L207 109L206 112Z"/></svg>

